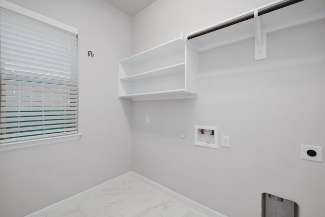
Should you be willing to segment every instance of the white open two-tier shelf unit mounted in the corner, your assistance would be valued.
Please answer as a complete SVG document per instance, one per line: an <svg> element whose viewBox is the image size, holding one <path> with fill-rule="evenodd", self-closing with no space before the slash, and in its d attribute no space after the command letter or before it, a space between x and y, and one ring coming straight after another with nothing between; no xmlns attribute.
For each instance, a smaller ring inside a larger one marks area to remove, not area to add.
<svg viewBox="0 0 325 217"><path fill-rule="evenodd" d="M197 77L198 52L178 38L121 60L119 97L193 98L197 95Z"/></svg>

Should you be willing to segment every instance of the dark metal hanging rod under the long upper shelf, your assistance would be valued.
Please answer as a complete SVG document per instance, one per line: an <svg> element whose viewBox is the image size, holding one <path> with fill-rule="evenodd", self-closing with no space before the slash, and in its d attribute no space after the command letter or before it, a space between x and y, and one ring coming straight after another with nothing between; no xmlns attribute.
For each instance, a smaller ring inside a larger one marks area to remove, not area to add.
<svg viewBox="0 0 325 217"><path fill-rule="evenodd" d="M278 9L281 9L281 8L284 8L284 7L287 7L289 5L293 5L293 4L296 4L298 2L302 2L302 1L304 1L304 0L287 0L287 1L280 2L280 3L275 4L275 5L272 5L272 6L268 6L266 8L258 9L257 10L258 11L258 16L261 16L263 14L267 14L269 12L272 12L272 11L275 11L275 10L278 10ZM223 22L223 23L220 23L218 25L212 26L210 28L204 29L204 30L202 30L200 32L190 34L190 35L187 36L187 39L190 40L190 39L193 39L193 38L197 38L199 36L214 32L214 31L219 30L221 28L225 28L225 27L228 27L228 26L231 26L231 25L234 25L234 24L237 24L237 23L240 23L240 22L243 22L245 20L252 19L252 18L254 18L254 11L249 12L248 14L244 14L242 16L236 17L236 18L234 18L232 20L228 20L226 22Z"/></svg>

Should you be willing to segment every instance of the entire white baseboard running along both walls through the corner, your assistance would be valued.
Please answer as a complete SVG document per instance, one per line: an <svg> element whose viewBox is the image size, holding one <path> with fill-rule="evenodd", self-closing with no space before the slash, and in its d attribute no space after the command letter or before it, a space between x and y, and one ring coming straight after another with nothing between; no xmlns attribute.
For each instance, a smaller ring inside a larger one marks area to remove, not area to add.
<svg viewBox="0 0 325 217"><path fill-rule="evenodd" d="M79 193L77 195L74 195L74 196L69 197L67 199L64 199L62 201L54 203L54 204L52 204L50 206L47 206L47 207L45 207L45 208L43 208L41 210L38 210L38 211L33 212L31 214L28 214L25 217L44 217L47 214L50 214L50 213L52 213L52 212L54 212L54 211L56 211L58 209L61 209L61 208L65 207L65 206L68 206L68 205L70 205L70 204L72 204L72 203L74 203L74 202L76 202L78 200L81 200L82 198L85 198L85 197L88 197L88 196L90 196L92 194L95 194L96 192L98 192L102 188L107 188L110 185L114 185L117 182L119 182L119 181L121 181L121 180L123 180L125 178L128 178L128 177L132 177L134 179L142 181L142 182L148 184L153 189L155 189L155 190L157 190L157 191L159 191L159 192L161 192L161 193L163 193L163 194L165 194L165 195L167 195L167 196L169 196L169 197L171 197L171 198L173 198L173 199L175 199L175 200L177 200L177 201L179 201L179 202L181 202L181 203L183 203L183 204L185 204L185 205L187 205L187 206L189 206L189 207L191 207L191 208L193 208L193 209L195 209L195 210L197 210L199 212L202 212L202 213L208 215L209 217L228 217L228 216L226 216L224 214L221 214L221 213L219 213L219 212L217 212L217 211L215 211L213 209L210 209L209 207L206 207L206 206L204 206L204 205L202 205L202 204L200 204L200 203L198 203L196 201L193 201L193 200L191 200L189 198L186 198L186 197L184 197L184 196L182 196L182 195L180 195L180 194L178 194L178 193L164 187L163 185L158 184L158 183L156 183L156 182L154 182L154 181L152 181L152 180L150 180L150 179L148 179L148 178L146 178L146 177L144 177L144 176L142 176L142 175L140 175L140 174L138 174L136 172L133 172L133 171L127 172L127 173L125 173L123 175L120 175L120 176L118 176L116 178L113 178L113 179L108 180L108 181L106 181L106 182L104 182L102 184L99 184L99 185L97 185L97 186L95 186L95 187L93 187L91 189L83 191L83 192L81 192L81 193Z"/></svg>

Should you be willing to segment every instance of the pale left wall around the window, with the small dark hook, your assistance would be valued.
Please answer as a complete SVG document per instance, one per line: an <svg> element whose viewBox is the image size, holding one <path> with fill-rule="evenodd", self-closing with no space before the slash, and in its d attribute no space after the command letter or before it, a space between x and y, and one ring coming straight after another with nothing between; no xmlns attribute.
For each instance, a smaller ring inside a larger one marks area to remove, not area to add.
<svg viewBox="0 0 325 217"><path fill-rule="evenodd" d="M11 0L79 29L80 140L0 152L0 216L17 217L131 170L131 103L117 96L132 19L104 0ZM88 50L94 52L89 58Z"/></svg>

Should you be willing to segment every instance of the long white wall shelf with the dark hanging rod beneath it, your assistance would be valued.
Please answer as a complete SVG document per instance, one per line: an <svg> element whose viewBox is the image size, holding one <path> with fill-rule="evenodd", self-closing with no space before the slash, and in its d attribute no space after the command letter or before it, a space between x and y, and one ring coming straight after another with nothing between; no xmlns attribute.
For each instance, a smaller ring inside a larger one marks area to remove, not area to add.
<svg viewBox="0 0 325 217"><path fill-rule="evenodd" d="M258 12L266 11L266 9L283 4L289 1L281 0L263 7L256 8L246 13L240 14L236 17L218 22L214 25L200 29L197 32L187 35L189 43L196 47L197 50L204 51L212 48L220 47L226 44L238 42L248 38L255 38L255 42L261 40L258 46L261 49L266 49L266 34L276 30L296 26L299 24L308 23L311 21L319 20L325 17L325 1L324 0L304 0L275 11L258 15ZM254 17L254 12L255 14ZM262 14L262 13L261 13ZM237 20L245 20L236 24ZM261 27L258 27L258 21ZM220 27L220 29L218 28ZM258 29L259 28L259 29ZM213 32L200 35L203 32L209 32L210 29L218 29ZM258 38L258 31L261 31ZM200 35L200 36L198 36ZM264 36L263 36L264 35ZM194 38L193 38L194 37ZM257 40L258 39L258 40ZM262 48L262 41L265 43ZM257 43L257 42L256 42ZM256 46L256 45L255 45ZM255 49L256 50L256 49ZM256 54L256 51L255 51ZM256 55L255 55L256 57Z"/></svg>

